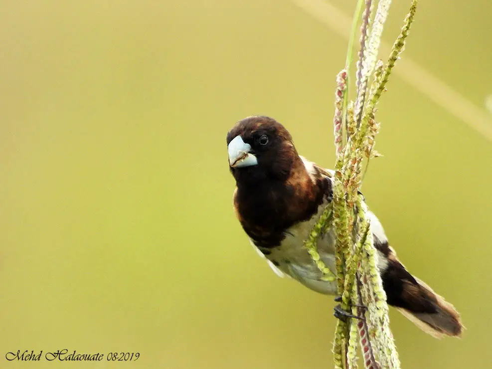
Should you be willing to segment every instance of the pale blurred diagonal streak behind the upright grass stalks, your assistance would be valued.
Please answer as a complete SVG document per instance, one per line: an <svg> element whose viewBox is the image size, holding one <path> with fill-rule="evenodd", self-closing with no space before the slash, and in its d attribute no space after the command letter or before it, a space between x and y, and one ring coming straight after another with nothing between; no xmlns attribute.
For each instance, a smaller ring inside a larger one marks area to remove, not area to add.
<svg viewBox="0 0 492 369"><path fill-rule="evenodd" d="M326 0L291 1L320 22L328 25L332 31L348 39L351 19L341 10ZM382 55L389 55L391 45L382 41L380 52ZM430 100L461 119L489 141L492 141L492 118L485 109L477 107L461 93L408 57L405 57L404 62L398 63L393 73L423 95L426 95Z"/></svg>

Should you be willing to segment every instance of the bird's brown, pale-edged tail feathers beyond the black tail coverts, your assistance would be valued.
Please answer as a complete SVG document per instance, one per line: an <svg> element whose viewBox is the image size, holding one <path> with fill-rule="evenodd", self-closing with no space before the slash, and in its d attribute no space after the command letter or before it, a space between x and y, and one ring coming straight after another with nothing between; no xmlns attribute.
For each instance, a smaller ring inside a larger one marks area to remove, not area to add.
<svg viewBox="0 0 492 369"><path fill-rule="evenodd" d="M436 294L424 282L415 279L435 312L412 312L405 308L398 308L398 310L422 331L435 338L461 337L465 327L461 323L460 314L454 306Z"/></svg>

